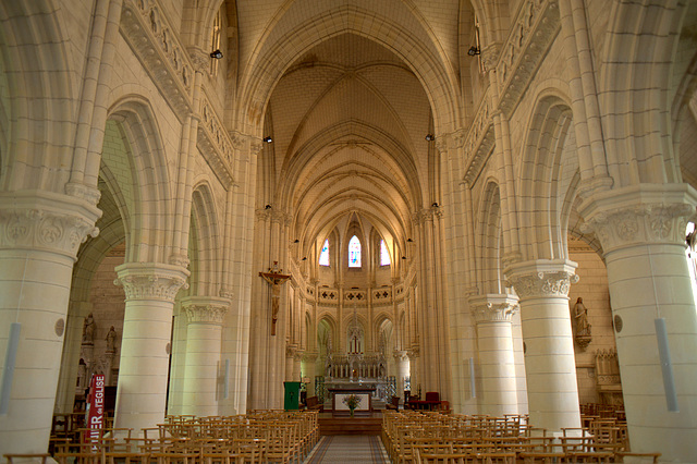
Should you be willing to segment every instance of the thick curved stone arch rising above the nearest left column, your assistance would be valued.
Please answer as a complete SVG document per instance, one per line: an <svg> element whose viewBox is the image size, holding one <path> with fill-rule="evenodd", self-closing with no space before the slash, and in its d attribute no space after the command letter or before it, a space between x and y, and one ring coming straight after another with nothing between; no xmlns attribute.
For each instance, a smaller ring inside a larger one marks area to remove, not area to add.
<svg viewBox="0 0 697 464"><path fill-rule="evenodd" d="M0 61L11 96L1 191L64 193L70 179L76 130L70 102L76 90L56 12L51 0L0 2Z"/></svg>

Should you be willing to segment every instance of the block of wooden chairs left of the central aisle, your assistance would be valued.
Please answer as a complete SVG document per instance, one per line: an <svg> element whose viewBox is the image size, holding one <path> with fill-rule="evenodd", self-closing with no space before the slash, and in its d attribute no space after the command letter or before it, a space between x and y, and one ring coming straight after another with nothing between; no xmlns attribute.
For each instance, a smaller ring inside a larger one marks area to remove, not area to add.
<svg viewBox="0 0 697 464"><path fill-rule="evenodd" d="M168 416L157 428L100 429L97 437L56 438L61 464L301 463L319 440L317 411L264 411L237 416Z"/></svg>

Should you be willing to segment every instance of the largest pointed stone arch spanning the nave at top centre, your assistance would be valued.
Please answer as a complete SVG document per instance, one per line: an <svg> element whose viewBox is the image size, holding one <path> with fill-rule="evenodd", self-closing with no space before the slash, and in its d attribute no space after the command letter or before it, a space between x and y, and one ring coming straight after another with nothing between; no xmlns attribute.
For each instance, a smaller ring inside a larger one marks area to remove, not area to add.
<svg viewBox="0 0 697 464"><path fill-rule="evenodd" d="M448 63L431 33L423 27L421 19L415 15L415 9L408 9L401 2L395 2L392 7L403 11L414 23L413 30L404 29L387 15L356 4L341 4L332 9L332 14L318 14L298 23L293 13L303 17L303 14L295 12L301 7L294 2L285 3L259 39L258 47L247 60L250 65L241 76L241 98L235 115L239 124L258 132L272 89L292 64L291 60L318 42L352 33L377 41L407 63L421 82L431 108L439 110L435 113L438 132L448 133L460 126L462 115L456 105L460 91L453 66ZM282 22L284 27L277 27ZM374 24L382 26L376 29ZM417 35L420 40L415 39ZM403 46L394 47L394 44Z"/></svg>

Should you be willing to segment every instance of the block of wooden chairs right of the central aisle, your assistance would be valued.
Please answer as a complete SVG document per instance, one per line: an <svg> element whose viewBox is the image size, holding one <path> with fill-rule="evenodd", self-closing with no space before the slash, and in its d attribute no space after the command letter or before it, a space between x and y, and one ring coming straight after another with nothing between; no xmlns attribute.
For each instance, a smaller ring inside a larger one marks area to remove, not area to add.
<svg viewBox="0 0 697 464"><path fill-rule="evenodd" d="M612 430L612 432L608 431ZM561 437L527 424L526 416L488 417L386 412L382 441L393 463L622 462L632 453L616 427L562 429Z"/></svg>

